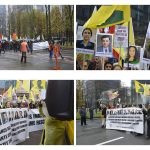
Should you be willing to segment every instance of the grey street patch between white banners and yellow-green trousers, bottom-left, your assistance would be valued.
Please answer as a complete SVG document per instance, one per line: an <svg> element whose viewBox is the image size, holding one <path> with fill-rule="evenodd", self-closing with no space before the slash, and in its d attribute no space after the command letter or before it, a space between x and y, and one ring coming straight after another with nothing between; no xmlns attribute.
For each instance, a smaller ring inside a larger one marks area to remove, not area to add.
<svg viewBox="0 0 150 150"><path fill-rule="evenodd" d="M42 136L42 131L35 131L29 134L29 139L19 143L18 145L40 145L40 140Z"/></svg>

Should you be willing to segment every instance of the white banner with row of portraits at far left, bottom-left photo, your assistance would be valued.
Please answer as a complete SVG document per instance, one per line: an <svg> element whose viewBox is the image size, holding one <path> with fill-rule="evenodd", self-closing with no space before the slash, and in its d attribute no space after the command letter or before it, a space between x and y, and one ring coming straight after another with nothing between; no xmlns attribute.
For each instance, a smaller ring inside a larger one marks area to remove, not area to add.
<svg viewBox="0 0 150 150"><path fill-rule="evenodd" d="M0 109L0 145L18 144L28 137L27 109Z"/></svg>

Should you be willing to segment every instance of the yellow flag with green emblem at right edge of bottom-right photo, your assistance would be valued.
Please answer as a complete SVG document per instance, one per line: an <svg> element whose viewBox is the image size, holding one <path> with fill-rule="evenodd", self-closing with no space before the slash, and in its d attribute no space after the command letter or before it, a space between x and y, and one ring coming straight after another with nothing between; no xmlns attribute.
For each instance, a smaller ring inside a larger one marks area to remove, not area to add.
<svg viewBox="0 0 150 150"><path fill-rule="evenodd" d="M145 84L142 84L138 81L134 81L134 84L135 84L135 91L136 93L140 93L144 96L150 96L150 87L145 83Z"/></svg>

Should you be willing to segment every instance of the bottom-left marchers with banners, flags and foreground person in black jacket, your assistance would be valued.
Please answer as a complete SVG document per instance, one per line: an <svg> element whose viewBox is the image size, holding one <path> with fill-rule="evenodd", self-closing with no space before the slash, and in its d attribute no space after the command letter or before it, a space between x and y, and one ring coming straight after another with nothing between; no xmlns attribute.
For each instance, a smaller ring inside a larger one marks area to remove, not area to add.
<svg viewBox="0 0 150 150"><path fill-rule="evenodd" d="M74 143L73 80L1 80L0 91L0 145L20 145L34 133L38 145Z"/></svg>

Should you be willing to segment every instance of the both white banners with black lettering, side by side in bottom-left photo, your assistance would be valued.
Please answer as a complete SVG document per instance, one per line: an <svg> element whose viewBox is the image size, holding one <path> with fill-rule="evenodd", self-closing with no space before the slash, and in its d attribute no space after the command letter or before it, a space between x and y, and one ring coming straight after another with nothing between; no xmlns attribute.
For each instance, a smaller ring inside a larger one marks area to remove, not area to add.
<svg viewBox="0 0 150 150"><path fill-rule="evenodd" d="M29 138L29 132L43 129L38 109L0 109L0 145L16 145Z"/></svg>

